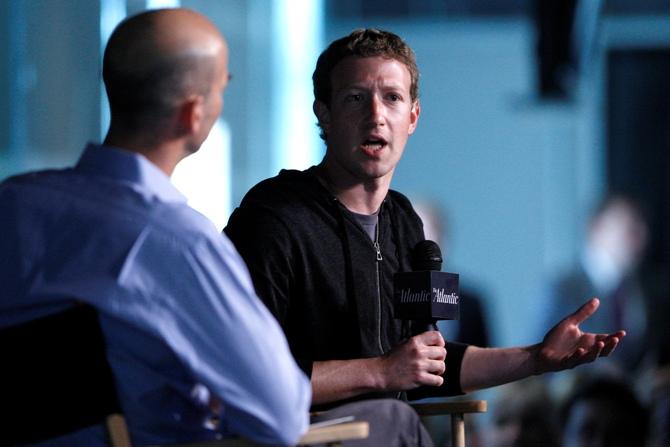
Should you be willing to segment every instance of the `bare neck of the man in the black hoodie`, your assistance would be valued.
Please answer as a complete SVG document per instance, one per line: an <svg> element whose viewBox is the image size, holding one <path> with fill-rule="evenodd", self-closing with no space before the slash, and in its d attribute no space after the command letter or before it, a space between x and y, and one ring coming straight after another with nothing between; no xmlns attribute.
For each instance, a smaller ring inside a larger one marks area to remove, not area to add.
<svg viewBox="0 0 670 447"><path fill-rule="evenodd" d="M379 210L391 185L391 176L374 179L354 179L340 175L325 159L317 166L319 181L349 211L374 214Z"/></svg>

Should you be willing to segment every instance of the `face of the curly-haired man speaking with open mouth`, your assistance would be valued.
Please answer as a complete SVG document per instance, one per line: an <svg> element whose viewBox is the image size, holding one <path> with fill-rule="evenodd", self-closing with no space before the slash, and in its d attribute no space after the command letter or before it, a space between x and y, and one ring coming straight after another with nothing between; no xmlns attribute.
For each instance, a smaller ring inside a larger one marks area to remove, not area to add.
<svg viewBox="0 0 670 447"><path fill-rule="evenodd" d="M390 180L419 118L409 70L395 59L350 56L330 77L330 108L315 103L327 158L350 180Z"/></svg>

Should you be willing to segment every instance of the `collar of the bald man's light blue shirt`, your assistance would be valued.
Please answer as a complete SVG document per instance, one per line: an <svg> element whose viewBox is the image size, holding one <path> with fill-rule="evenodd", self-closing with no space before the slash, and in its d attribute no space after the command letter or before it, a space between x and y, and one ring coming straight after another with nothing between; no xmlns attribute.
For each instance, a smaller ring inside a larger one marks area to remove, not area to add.
<svg viewBox="0 0 670 447"><path fill-rule="evenodd" d="M186 202L170 177L156 165L143 155L122 148L89 143L75 170L139 185L165 202Z"/></svg>

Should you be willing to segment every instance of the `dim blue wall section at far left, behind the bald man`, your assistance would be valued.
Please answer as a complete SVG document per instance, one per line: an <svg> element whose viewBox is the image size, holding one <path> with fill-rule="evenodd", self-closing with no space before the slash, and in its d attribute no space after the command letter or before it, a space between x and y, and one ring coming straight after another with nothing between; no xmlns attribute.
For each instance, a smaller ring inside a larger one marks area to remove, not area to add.
<svg viewBox="0 0 670 447"><path fill-rule="evenodd" d="M70 164L99 122L99 5L0 4L0 178Z"/></svg>

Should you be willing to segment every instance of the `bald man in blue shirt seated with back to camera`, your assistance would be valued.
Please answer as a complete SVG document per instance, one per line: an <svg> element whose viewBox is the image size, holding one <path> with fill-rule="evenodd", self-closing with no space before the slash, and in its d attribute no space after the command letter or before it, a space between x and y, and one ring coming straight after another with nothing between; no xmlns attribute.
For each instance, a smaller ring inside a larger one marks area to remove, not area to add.
<svg viewBox="0 0 670 447"><path fill-rule="evenodd" d="M104 143L0 184L0 327L97 308L135 445L293 444L308 424L309 382L244 263L169 180L221 112L227 65L200 14L127 19L104 55ZM105 445L100 427L58 442Z"/></svg>

